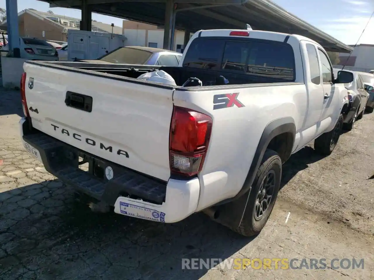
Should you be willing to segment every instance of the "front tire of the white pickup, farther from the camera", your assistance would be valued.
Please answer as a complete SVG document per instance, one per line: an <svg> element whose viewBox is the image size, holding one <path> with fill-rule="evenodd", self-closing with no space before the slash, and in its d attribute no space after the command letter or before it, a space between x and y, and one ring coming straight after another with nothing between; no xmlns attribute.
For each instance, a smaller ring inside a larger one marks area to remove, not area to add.
<svg viewBox="0 0 374 280"><path fill-rule="evenodd" d="M335 149L343 128L343 115L340 114L333 130L326 132L314 140L314 149L322 155L328 156Z"/></svg>

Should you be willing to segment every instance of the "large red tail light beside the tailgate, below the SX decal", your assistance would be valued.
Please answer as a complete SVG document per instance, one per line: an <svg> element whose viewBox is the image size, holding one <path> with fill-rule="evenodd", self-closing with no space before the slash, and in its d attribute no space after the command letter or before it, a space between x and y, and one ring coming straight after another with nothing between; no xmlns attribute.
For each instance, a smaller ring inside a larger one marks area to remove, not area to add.
<svg viewBox="0 0 374 280"><path fill-rule="evenodd" d="M169 142L172 174L193 176L201 171L212 123L212 118L203 113L174 107Z"/></svg>

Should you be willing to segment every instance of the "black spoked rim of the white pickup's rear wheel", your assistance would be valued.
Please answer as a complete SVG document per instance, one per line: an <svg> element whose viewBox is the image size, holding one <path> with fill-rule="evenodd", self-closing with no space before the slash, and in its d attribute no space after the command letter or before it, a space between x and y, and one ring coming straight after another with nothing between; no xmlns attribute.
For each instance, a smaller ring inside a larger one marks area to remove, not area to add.
<svg viewBox="0 0 374 280"><path fill-rule="evenodd" d="M269 170L261 183L255 202L254 218L256 221L261 220L264 214L269 210L272 203L275 189L276 174L274 170Z"/></svg>

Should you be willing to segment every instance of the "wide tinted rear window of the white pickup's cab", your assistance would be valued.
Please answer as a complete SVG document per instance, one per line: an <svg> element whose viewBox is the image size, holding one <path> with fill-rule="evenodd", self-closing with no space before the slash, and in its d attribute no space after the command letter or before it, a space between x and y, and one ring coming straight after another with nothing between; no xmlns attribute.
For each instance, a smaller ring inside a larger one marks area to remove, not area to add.
<svg viewBox="0 0 374 280"><path fill-rule="evenodd" d="M196 38L188 47L183 67L295 80L295 57L292 47L287 43L269 40Z"/></svg>

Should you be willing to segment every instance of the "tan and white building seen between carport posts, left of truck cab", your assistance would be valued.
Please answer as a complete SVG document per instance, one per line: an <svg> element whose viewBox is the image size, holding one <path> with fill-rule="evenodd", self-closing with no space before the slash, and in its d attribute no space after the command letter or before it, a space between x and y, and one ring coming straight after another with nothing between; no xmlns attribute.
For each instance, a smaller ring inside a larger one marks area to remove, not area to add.
<svg viewBox="0 0 374 280"><path fill-rule="evenodd" d="M164 30L157 25L123 21L122 34L127 38L126 46L163 48ZM173 50L181 52L183 43L184 31L176 30Z"/></svg>

